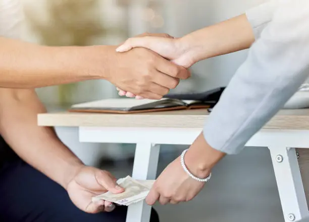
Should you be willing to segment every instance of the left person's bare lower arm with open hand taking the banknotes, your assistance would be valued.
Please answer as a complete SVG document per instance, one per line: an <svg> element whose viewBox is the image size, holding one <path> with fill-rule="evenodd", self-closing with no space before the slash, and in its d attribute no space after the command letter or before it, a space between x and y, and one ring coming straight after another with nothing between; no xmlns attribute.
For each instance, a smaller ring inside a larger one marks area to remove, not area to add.
<svg viewBox="0 0 309 222"><path fill-rule="evenodd" d="M72 202L88 213L112 211L109 201L92 201L98 194L121 193L117 179L86 166L50 127L37 126L46 109L31 89L0 89L0 134L28 164L66 189Z"/></svg>

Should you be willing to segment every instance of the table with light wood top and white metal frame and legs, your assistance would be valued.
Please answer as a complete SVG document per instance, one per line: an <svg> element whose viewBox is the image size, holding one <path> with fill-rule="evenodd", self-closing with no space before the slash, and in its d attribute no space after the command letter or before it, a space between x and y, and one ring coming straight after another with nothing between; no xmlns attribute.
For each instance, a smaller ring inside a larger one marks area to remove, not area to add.
<svg viewBox="0 0 309 222"><path fill-rule="evenodd" d="M39 114L38 125L78 127L80 142L136 144L132 178L144 181L156 179L160 144L191 144L208 116L205 109L144 114L62 112ZM309 147L309 109L280 111L246 146L270 149L285 221L309 216L295 151ZM127 221L148 222L150 209L145 201L130 204Z"/></svg>

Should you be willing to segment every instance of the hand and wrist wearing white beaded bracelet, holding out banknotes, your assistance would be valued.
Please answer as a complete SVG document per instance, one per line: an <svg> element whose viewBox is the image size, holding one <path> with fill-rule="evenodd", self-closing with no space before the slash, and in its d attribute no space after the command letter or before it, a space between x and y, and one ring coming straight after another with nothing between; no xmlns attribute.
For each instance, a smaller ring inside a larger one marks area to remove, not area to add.
<svg viewBox="0 0 309 222"><path fill-rule="evenodd" d="M225 155L212 148L201 133L186 152L184 161L191 174L206 178ZM186 202L201 191L205 183L192 179L182 168L180 160L181 157L176 158L158 177L146 197L147 204Z"/></svg>

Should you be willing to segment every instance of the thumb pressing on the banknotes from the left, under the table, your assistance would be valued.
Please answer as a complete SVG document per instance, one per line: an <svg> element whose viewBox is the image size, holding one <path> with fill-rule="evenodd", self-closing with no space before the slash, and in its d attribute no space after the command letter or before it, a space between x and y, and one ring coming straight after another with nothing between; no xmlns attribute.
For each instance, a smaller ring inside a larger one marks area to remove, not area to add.
<svg viewBox="0 0 309 222"><path fill-rule="evenodd" d="M116 178L110 172L100 171L96 174L96 180L102 187L112 193L117 194L125 191L123 187L116 183Z"/></svg>

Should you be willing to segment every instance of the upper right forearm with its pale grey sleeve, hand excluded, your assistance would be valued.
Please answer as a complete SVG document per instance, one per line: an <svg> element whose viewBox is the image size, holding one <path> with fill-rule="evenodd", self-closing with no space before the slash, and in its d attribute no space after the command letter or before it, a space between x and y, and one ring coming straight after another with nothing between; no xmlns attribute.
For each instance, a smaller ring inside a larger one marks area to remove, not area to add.
<svg viewBox="0 0 309 222"><path fill-rule="evenodd" d="M184 47L194 63L247 49L272 20L278 5L278 0L272 0L245 14L192 32L179 39L180 47Z"/></svg>

